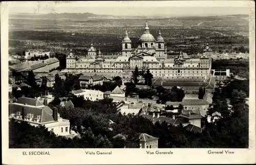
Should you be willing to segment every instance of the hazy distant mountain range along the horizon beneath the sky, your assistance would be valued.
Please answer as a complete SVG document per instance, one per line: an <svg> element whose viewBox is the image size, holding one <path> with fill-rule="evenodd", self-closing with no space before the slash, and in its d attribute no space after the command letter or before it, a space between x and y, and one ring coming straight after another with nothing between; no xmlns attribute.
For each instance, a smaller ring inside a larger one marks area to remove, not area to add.
<svg viewBox="0 0 256 165"><path fill-rule="evenodd" d="M223 15L224 16L224 15ZM246 14L225 15L226 17L248 17ZM49 13L49 14L32 14L32 13L12 13L10 18L27 18L27 19L141 19L141 18L200 18L200 17L222 17L222 16L114 16L114 15L98 15L93 13Z"/></svg>

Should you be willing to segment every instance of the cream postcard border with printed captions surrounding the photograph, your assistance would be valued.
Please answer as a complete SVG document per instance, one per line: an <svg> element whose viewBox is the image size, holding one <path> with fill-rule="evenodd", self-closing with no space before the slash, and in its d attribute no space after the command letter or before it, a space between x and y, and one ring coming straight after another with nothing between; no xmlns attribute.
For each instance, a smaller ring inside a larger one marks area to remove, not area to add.
<svg viewBox="0 0 256 165"><path fill-rule="evenodd" d="M28 4L18 2L1 3L1 79L2 79L2 154L4 164L203 164L203 163L255 163L255 9L254 1L161 1L159 2L71 2L55 3L60 7L86 3L94 7L248 7L250 13L250 95L249 95L249 149L151 149L172 151L172 155L148 155L145 149L9 149L8 144L8 9ZM33 2L38 3L38 2ZM39 2L52 5L53 2ZM208 154L207 151L230 150L235 154ZM51 155L29 156L24 151L49 151ZM86 155L85 151L112 151L112 155Z"/></svg>

